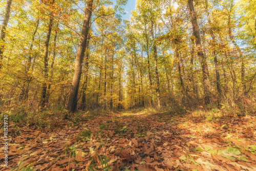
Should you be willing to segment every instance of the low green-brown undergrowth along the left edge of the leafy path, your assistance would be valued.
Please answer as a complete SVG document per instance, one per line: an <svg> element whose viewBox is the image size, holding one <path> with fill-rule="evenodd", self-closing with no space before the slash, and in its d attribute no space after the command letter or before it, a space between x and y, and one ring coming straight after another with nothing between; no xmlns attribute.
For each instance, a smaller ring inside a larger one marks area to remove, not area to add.
<svg viewBox="0 0 256 171"><path fill-rule="evenodd" d="M8 122L15 126L36 126L39 128L54 128L63 124L77 126L81 121L95 119L100 116L110 114L110 111L92 110L92 111L77 111L69 113L63 106L51 105L48 108L31 109L25 105L10 105L2 106L0 119L3 120L4 115L8 115ZM3 124L0 123L0 127Z"/></svg>

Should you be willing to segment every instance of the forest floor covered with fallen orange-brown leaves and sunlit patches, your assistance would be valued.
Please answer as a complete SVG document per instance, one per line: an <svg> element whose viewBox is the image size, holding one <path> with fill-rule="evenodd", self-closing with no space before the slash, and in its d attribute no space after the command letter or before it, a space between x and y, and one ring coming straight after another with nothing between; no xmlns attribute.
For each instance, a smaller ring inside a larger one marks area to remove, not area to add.
<svg viewBox="0 0 256 171"><path fill-rule="evenodd" d="M144 110L54 117L44 127L9 122L8 168L2 146L0 170L256 170L254 116Z"/></svg>

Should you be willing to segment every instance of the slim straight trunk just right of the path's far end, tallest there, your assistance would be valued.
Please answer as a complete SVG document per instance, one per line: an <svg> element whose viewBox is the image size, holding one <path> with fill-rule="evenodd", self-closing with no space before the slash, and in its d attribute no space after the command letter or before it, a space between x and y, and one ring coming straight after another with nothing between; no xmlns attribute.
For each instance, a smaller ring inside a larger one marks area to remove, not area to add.
<svg viewBox="0 0 256 171"><path fill-rule="evenodd" d="M155 40L154 38L154 22L151 21L151 36L153 41ZM153 42L153 49L154 49L154 58L155 58L155 73L156 73L156 94L157 94L157 106L158 108L161 107L161 103L160 103L160 84L159 84L159 75L158 75L158 68L157 68L157 46L156 46L156 42Z"/></svg>

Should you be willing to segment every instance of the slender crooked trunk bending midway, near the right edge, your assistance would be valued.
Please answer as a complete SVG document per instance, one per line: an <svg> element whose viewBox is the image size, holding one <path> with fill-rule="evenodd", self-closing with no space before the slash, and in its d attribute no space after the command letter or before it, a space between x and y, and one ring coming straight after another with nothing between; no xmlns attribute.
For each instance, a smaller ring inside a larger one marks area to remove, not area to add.
<svg viewBox="0 0 256 171"><path fill-rule="evenodd" d="M233 1L231 2L231 7L230 7L229 15L228 15L228 35L229 35L229 38L232 41L234 47L236 47L236 49L239 53L239 58L242 60L242 62L241 62L241 81L242 81L243 93L244 93L246 91L246 83L245 83L245 79L244 79L245 78L244 57L243 57L241 49L237 45L237 42L234 40L234 36L232 35L231 24L230 24L232 8L233 8Z"/></svg>

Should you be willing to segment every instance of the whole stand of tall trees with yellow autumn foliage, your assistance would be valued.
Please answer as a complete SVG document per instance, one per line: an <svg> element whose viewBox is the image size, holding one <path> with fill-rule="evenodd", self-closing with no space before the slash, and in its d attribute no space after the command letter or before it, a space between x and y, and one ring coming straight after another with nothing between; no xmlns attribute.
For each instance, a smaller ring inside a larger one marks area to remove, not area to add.
<svg viewBox="0 0 256 171"><path fill-rule="evenodd" d="M76 1L6 2L1 104L180 112L253 98L255 1L138 0L125 21L122 0L88 0L84 9Z"/></svg>

